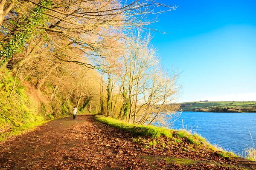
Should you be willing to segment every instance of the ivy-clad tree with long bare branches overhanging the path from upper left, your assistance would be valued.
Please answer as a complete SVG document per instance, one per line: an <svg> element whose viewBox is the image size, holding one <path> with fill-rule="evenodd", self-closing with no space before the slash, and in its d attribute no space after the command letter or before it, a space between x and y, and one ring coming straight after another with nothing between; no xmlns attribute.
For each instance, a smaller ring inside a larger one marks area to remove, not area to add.
<svg viewBox="0 0 256 170"><path fill-rule="evenodd" d="M47 34L47 45L51 45L52 55L89 68L99 68L97 66L102 65L101 58L108 54L109 49L122 48L117 42L125 37L124 33L131 27L144 28L154 22L147 20L147 15L176 8L148 0L134 0L131 3L119 3L117 0L22 0L15 4L8 2L1 1L5 11L2 18L9 15L3 19L5 37L0 48L5 52L0 54L1 64L40 32ZM157 7L165 10L161 11ZM22 41L14 42L20 37ZM67 54L65 51L70 49L80 51L82 55L74 57L73 54L76 53ZM84 61L83 57L90 60Z"/></svg>

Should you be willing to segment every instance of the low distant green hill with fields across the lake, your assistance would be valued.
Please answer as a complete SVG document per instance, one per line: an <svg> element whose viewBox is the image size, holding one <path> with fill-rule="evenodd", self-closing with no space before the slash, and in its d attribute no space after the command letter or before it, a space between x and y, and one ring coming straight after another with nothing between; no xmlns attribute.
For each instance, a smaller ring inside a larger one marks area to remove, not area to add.
<svg viewBox="0 0 256 170"><path fill-rule="evenodd" d="M184 102L179 103L183 111L202 111L202 112L256 112L256 101L248 102Z"/></svg>

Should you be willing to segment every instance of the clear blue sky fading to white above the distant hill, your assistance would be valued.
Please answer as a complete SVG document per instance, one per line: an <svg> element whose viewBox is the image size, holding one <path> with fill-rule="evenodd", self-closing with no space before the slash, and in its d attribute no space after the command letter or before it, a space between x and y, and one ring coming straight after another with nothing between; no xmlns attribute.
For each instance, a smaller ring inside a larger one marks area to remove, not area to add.
<svg viewBox="0 0 256 170"><path fill-rule="evenodd" d="M152 43L183 85L178 102L256 101L256 1L163 0Z"/></svg>

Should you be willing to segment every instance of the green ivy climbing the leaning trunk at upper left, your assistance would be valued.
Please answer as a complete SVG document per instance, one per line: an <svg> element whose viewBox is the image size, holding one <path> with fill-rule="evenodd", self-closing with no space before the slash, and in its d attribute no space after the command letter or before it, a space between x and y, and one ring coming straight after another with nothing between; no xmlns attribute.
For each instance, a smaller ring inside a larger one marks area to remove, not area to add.
<svg viewBox="0 0 256 170"><path fill-rule="evenodd" d="M41 0L40 5L49 7L52 4L50 0ZM15 21L10 20L15 31L10 32L8 40L0 41L0 66L2 66L9 58L15 53L21 53L22 48L26 42L31 40L37 32L36 28L44 25L44 21L47 20L47 17L42 14L46 9L36 6L30 12L29 16L24 16L21 20Z"/></svg>

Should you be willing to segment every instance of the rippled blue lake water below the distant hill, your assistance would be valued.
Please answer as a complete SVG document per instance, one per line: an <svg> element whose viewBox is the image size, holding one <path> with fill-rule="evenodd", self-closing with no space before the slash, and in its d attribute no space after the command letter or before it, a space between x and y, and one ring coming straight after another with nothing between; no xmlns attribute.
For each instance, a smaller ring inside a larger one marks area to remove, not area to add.
<svg viewBox="0 0 256 170"><path fill-rule="evenodd" d="M253 142L256 147L256 113L183 112L170 128L182 128L182 120L185 129L241 156Z"/></svg>

